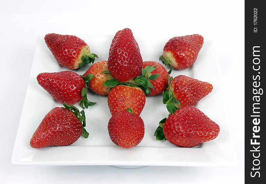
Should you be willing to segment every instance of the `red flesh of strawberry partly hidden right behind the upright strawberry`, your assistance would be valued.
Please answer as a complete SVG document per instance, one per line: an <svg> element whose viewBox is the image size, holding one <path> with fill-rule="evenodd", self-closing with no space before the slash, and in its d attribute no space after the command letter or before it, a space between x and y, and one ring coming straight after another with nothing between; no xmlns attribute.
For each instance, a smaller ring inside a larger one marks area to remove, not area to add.
<svg viewBox="0 0 266 184"><path fill-rule="evenodd" d="M155 96L157 94L161 94L168 85L167 77L170 77L168 72L165 70L165 68L158 62L155 61L144 61L142 68L144 69L147 65L155 66L156 69L150 72L151 75L154 74L160 74L160 76L155 80L149 80L154 89L150 89L151 94L147 94L148 96Z"/></svg>

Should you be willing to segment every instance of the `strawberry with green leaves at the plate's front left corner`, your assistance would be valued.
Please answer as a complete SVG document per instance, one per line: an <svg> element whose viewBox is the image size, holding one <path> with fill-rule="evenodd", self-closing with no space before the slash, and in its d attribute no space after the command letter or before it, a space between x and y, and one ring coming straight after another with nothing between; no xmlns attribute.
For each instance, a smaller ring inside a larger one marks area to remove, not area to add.
<svg viewBox="0 0 266 184"><path fill-rule="evenodd" d="M80 136L87 138L84 110L79 112L73 105L56 107L43 118L34 132L30 145L32 148L47 146L67 146L74 143Z"/></svg>

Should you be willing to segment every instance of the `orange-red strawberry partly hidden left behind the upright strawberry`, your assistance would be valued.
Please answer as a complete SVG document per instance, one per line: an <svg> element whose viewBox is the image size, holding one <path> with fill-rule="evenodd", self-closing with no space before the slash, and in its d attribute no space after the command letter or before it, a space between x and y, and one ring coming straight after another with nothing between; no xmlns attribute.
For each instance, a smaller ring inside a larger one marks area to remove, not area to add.
<svg viewBox="0 0 266 184"><path fill-rule="evenodd" d="M103 86L103 83L106 80L113 79L111 75L106 73L108 70L107 68L107 61L99 61L96 63L93 63L91 67L83 74L84 77L86 75L91 74L94 75L94 77L91 79L88 87L94 92L99 95L108 95L109 91L111 90L110 87Z"/></svg>

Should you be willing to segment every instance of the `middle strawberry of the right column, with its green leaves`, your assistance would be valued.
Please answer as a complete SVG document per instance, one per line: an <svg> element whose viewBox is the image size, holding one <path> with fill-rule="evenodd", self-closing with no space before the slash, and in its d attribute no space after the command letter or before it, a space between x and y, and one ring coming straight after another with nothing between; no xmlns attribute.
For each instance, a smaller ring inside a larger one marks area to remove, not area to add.
<svg viewBox="0 0 266 184"><path fill-rule="evenodd" d="M171 78L168 78L169 80ZM201 98L212 91L212 85L197 79L178 75L172 79L163 92L163 103L170 113L178 108L195 105Z"/></svg>

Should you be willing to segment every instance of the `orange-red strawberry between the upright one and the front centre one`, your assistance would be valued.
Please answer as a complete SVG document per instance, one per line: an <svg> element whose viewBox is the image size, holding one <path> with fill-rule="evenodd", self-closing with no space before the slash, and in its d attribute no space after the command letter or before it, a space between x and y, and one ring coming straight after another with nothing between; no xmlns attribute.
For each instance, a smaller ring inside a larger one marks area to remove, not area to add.
<svg viewBox="0 0 266 184"><path fill-rule="evenodd" d="M119 85L109 92L107 102L112 115L130 108L133 114L139 116L146 98L139 87Z"/></svg>

